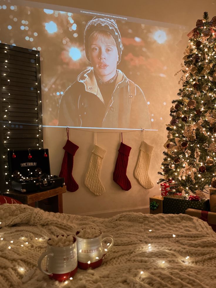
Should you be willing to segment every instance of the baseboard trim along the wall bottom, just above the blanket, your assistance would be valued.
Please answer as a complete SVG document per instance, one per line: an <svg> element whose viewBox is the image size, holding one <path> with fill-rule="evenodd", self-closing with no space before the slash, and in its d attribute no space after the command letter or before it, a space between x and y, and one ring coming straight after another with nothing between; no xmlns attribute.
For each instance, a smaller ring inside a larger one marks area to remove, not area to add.
<svg viewBox="0 0 216 288"><path fill-rule="evenodd" d="M112 209L112 210L105 210L105 211L95 211L89 213L80 213L76 214L79 216L92 216L98 218L108 218L114 215L125 213L125 212L141 212L141 213L149 213L149 206L140 206L140 207L131 207L131 208L122 208L122 209Z"/></svg>

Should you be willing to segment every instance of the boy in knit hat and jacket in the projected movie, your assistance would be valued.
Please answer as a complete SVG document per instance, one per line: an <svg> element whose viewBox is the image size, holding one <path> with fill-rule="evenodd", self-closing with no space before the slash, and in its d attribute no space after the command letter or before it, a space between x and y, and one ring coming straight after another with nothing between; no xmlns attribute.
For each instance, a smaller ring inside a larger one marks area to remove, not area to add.
<svg viewBox="0 0 216 288"><path fill-rule="evenodd" d="M151 129L142 90L117 69L122 40L116 22L93 18L86 25L84 45L92 68L61 97L58 126Z"/></svg>

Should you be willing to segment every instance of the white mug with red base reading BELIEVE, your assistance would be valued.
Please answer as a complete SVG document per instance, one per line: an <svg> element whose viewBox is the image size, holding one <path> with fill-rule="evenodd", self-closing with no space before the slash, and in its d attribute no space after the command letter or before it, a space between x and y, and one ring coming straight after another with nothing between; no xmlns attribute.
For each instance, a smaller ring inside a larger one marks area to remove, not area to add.
<svg viewBox="0 0 216 288"><path fill-rule="evenodd" d="M102 264L104 255L114 244L111 235L102 234L95 238L81 238L79 231L76 232L77 239L77 263L80 269L97 268ZM109 243L103 248L102 242L109 239Z"/></svg>

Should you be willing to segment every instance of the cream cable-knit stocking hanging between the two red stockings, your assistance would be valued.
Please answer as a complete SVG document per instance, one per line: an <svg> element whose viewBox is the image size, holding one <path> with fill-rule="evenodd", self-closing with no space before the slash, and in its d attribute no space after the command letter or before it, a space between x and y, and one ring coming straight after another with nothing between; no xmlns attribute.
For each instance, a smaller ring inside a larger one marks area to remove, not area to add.
<svg viewBox="0 0 216 288"><path fill-rule="evenodd" d="M102 195L105 192L105 188L100 181L100 171L102 166L102 160L107 150L94 145L92 155L89 161L89 167L85 174L84 183L95 195Z"/></svg>

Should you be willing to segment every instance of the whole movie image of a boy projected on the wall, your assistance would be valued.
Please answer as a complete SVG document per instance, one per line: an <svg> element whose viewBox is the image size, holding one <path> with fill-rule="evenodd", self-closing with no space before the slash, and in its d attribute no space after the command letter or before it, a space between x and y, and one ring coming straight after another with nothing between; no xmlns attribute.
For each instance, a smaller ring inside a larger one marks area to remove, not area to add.
<svg viewBox="0 0 216 288"><path fill-rule="evenodd" d="M2 3L0 41L41 53L44 125L157 128L176 29Z"/></svg>

